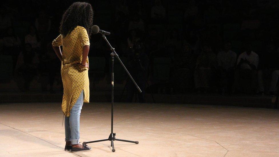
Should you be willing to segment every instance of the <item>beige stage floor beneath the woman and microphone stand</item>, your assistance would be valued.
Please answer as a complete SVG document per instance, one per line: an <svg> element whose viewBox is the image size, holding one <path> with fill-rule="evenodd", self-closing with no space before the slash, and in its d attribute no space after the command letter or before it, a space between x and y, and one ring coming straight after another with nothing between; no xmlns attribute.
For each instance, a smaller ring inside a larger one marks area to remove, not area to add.
<svg viewBox="0 0 279 157"><path fill-rule="evenodd" d="M114 108L114 141L88 152L64 151L59 103L0 105L0 156L279 156L279 110L180 104ZM106 139L110 104L84 104L80 141Z"/></svg>

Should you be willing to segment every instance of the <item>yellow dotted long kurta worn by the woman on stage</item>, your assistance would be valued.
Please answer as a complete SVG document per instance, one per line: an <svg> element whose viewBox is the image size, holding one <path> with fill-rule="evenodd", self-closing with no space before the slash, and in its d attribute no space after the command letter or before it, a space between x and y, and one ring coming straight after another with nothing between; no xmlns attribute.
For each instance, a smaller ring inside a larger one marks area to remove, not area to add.
<svg viewBox="0 0 279 157"><path fill-rule="evenodd" d="M83 102L89 103L88 69L76 64L82 61L83 46L90 46L89 37L84 27L77 26L66 37L60 34L53 40L52 45L63 45L61 77L64 92L61 110L68 117L82 90L84 90ZM88 57L86 63L89 63Z"/></svg>

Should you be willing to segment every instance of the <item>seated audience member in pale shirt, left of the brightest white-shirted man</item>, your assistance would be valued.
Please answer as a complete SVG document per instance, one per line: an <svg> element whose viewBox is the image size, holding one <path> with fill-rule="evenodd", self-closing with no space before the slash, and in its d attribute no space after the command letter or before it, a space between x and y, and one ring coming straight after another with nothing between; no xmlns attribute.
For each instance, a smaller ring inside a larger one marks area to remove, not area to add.
<svg viewBox="0 0 279 157"><path fill-rule="evenodd" d="M236 53L231 50L232 44L226 41L224 50L217 55L218 67L218 90L224 94L224 86L227 84L228 94L232 93L232 85L234 83L234 66L236 64Z"/></svg>

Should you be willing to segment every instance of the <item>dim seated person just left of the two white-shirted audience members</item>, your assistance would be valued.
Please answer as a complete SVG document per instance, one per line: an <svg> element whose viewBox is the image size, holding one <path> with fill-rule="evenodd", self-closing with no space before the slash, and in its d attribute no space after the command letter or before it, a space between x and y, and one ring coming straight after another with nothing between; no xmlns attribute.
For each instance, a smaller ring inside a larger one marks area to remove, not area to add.
<svg viewBox="0 0 279 157"><path fill-rule="evenodd" d="M194 72L194 81L198 92L207 92L209 89L209 82L216 64L216 55L212 52L211 47L205 44L197 59Z"/></svg>

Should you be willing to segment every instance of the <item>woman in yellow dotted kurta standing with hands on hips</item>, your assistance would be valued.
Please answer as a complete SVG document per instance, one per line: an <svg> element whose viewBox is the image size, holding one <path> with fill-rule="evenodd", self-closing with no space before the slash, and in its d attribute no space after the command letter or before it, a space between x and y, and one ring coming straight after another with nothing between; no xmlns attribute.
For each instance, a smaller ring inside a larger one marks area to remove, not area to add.
<svg viewBox="0 0 279 157"><path fill-rule="evenodd" d="M79 144L79 116L83 102L89 103L88 52L89 37L93 24L93 10L89 3L75 2L64 13L60 35L52 47L62 61L63 100L61 109L65 114L65 151L91 150ZM60 46L63 45L63 53Z"/></svg>

